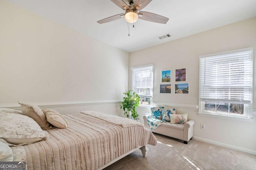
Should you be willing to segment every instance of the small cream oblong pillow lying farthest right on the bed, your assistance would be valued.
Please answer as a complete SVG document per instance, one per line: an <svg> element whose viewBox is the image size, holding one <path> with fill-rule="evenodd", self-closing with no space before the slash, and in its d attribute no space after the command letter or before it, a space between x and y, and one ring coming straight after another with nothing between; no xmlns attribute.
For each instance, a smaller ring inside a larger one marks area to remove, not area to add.
<svg viewBox="0 0 256 170"><path fill-rule="evenodd" d="M42 111L46 115L46 119L50 124L63 129L68 127L68 122L64 119L64 117L62 117L62 115L58 111L47 108L42 109Z"/></svg>

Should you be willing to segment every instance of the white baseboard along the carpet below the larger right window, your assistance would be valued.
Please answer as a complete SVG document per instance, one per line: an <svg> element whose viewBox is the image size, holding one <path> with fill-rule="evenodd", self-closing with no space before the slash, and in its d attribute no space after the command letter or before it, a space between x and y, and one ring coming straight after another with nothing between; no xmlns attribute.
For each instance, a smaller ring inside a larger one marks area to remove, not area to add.
<svg viewBox="0 0 256 170"><path fill-rule="evenodd" d="M221 147L226 147L226 148L230 148L230 149L240 150L242 152L247 152L247 153L255 154L256 155L256 151L255 150L250 150L250 149L245 149L245 148L241 148L241 147L236 147L236 146L233 146L233 145L228 145L228 144L225 144L225 143L211 141L211 140L203 139L203 138L200 138L200 137L194 137L193 136L193 139L196 139L198 141L203 141L203 142L211 143L211 144L214 144L214 145L219 145Z"/></svg>

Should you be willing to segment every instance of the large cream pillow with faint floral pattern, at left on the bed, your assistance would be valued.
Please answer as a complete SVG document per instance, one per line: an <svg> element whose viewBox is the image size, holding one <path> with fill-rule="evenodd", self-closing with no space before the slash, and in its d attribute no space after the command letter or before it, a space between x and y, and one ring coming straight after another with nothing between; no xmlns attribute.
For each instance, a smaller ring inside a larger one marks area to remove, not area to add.
<svg viewBox="0 0 256 170"><path fill-rule="evenodd" d="M27 144L48 138L32 118L16 114L0 112L0 138L11 144Z"/></svg>

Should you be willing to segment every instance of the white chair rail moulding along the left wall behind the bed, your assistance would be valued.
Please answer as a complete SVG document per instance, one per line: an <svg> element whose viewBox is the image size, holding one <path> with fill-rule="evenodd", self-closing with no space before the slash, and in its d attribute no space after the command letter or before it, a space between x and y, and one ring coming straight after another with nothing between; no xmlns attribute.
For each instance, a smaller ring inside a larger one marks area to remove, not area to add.
<svg viewBox="0 0 256 170"><path fill-rule="evenodd" d="M67 106L86 106L86 105L102 105L102 104L119 104L122 101L118 100L108 100L108 101L93 101L93 102L52 102L52 103L30 103L40 108L50 108L50 107L67 107ZM20 102L22 103L22 102ZM27 103L27 102L24 102ZM11 103L11 104L0 104L0 108L9 108L9 109L20 109L20 104L18 103Z"/></svg>

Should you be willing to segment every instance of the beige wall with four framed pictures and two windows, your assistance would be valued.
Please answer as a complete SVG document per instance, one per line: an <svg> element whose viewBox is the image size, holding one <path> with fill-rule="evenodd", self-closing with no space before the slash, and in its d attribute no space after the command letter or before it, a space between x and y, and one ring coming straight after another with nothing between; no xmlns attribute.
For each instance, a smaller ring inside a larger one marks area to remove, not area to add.
<svg viewBox="0 0 256 170"><path fill-rule="evenodd" d="M247 47L254 48L253 107L256 108L256 18L135 51L130 53L129 67L154 64L153 101L180 103L184 104L184 107L186 104L193 106L198 104L199 56ZM175 68L187 68L186 82L189 83L190 94L174 94ZM172 94L159 94L161 71L169 69L172 70ZM130 70L129 80L131 80ZM150 108L140 107L139 111L142 118ZM196 139L256 154L255 115L252 122L245 122L199 116L198 109L180 107L177 108L177 112L189 113L188 118L196 122L194 127ZM205 130L200 129L200 124L205 125Z"/></svg>

